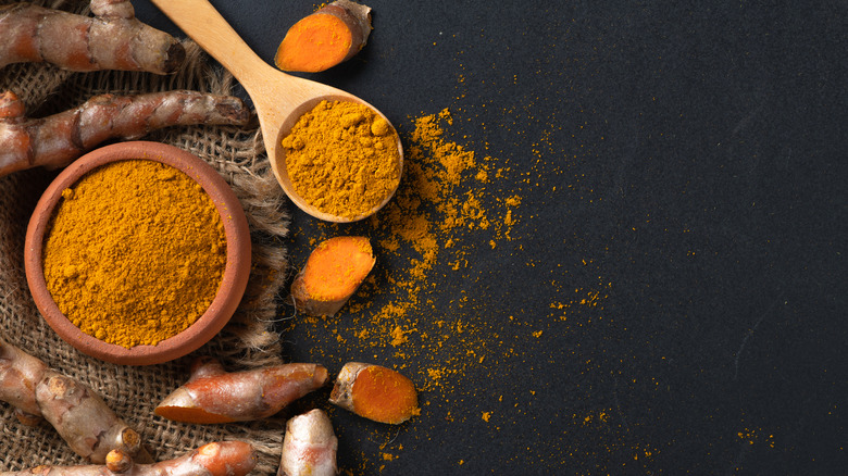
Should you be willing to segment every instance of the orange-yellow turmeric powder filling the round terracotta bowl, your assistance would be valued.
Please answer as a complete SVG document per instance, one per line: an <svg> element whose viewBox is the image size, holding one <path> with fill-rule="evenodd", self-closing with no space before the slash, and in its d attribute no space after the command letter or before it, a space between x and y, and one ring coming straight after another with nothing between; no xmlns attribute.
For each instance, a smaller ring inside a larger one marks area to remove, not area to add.
<svg viewBox="0 0 848 476"><path fill-rule="evenodd" d="M160 162L125 160L62 192L41 256L59 310L85 334L129 349L203 315L223 279L226 236L197 181Z"/></svg>

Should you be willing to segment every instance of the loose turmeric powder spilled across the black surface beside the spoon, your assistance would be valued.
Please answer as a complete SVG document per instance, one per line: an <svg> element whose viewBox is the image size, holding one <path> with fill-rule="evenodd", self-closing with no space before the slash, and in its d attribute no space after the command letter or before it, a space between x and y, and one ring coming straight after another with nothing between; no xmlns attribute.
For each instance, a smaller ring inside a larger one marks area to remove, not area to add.
<svg viewBox="0 0 848 476"><path fill-rule="evenodd" d="M529 359L526 349L558 348L552 342L571 325L570 315L586 314L575 323L600 318L609 284L598 278L597 284L574 288L558 278L545 291L557 300L533 303L536 310L525 311L536 322L504 315L497 305L508 299L504 276L491 262L479 260L478 246L495 250L495 260L497 253L523 253L532 215L525 216L522 187L535 184L522 179L529 173L513 171L510 160L478 154L452 140L454 117L449 109L411 123L414 129L403 136L404 175L395 198L373 217L352 225L361 227L357 234L371 237L377 265L339 314L298 315L290 325L313 341L329 334L328 342L313 347L311 359L331 366L372 361L412 378L422 414L401 429L414 434L412 438L431 438L427 431L435 422L482 423L489 431L533 425L544 417L532 402L537 393L550 391L549 384L528 390L516 380L511 393L481 398L466 383L521 374ZM349 228L311 223L310 245L352 233ZM528 267L534 265L527 262ZM559 276L557 266L551 272ZM447 283L456 285L447 289ZM389 472L392 462L402 459L392 435L375 431L372 439L386 443L379 453L358 454L354 474ZM551 440L535 451L537 460L558 464L564 450L562 441ZM464 456L458 464L472 458Z"/></svg>

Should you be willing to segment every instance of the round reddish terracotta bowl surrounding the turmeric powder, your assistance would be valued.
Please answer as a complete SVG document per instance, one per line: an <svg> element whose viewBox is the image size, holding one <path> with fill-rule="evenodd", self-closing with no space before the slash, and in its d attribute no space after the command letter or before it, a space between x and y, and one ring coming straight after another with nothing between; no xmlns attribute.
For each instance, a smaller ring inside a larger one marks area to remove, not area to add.
<svg viewBox="0 0 848 476"><path fill-rule="evenodd" d="M73 186L87 172L116 161L146 159L183 171L212 198L224 224L227 242L224 277L207 312L195 324L155 346L130 349L107 343L83 333L62 314L47 289L41 265L45 233L62 190ZM212 166L185 150L159 142L133 141L107 146L89 152L61 174L47 188L36 205L26 230L24 251L26 280L36 306L47 323L65 341L97 359L125 365L149 365L183 356L215 336L236 311L250 275L250 233L247 218L233 190Z"/></svg>

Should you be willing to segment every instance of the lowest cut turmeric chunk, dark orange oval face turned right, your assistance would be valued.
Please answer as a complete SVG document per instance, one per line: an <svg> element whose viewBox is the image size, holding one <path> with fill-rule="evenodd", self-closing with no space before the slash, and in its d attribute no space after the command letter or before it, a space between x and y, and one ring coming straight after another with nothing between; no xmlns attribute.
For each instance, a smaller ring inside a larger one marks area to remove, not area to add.
<svg viewBox="0 0 848 476"><path fill-rule="evenodd" d="M341 367L329 402L381 423L399 424L420 413L412 380L390 368L360 362Z"/></svg>

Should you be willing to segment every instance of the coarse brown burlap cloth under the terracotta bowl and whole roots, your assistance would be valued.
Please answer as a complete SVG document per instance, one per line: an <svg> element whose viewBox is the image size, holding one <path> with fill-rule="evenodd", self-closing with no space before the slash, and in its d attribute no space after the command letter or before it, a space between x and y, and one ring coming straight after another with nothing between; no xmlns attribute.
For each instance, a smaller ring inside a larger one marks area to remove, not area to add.
<svg viewBox="0 0 848 476"><path fill-rule="evenodd" d="M0 4L11 3L0 1ZM85 0L34 1L87 13ZM48 64L14 64L0 70L0 90L14 90L33 117L73 108L103 92L139 93L194 89L229 93L232 77L215 67L196 45L186 42L187 61L172 76L146 73L70 73ZM254 121L255 122L255 121ZM210 343L177 361L152 366L100 362L61 340L36 309L24 274L24 236L38 198L55 172L32 170L0 177L0 333L10 342L53 368L88 384L109 406L141 433L157 460L167 460L203 443L238 439L253 443L260 462L253 474L273 474L279 463L283 415L250 424L185 425L153 415L153 408L187 378L187 367L200 354L220 358L230 369L282 362L275 296L286 277L280 238L287 233L285 196L269 171L258 126L195 126L163 129L144 140L171 143L212 164L240 199L251 227L253 272L236 315ZM0 402L0 471L38 464L82 464L53 428L24 426L13 409Z"/></svg>

